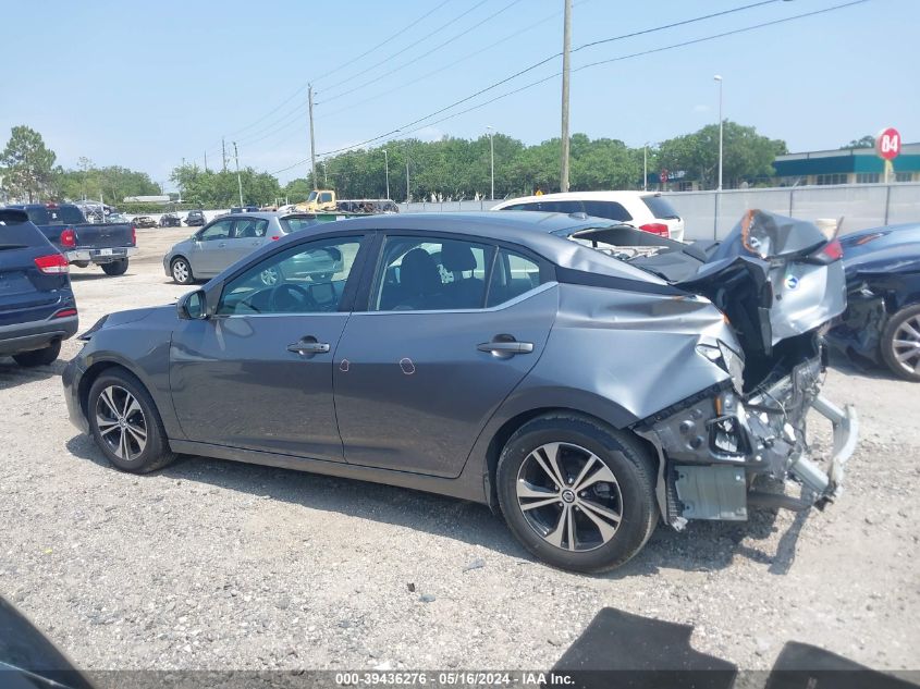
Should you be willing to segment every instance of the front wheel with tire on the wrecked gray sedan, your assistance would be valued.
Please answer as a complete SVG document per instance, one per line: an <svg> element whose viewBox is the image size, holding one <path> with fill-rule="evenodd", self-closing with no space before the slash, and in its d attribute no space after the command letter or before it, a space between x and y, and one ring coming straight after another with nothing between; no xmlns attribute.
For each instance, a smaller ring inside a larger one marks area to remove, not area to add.
<svg viewBox="0 0 920 689"><path fill-rule="evenodd" d="M154 398L127 371L116 369L96 379L86 416L93 440L122 471L149 473L175 459Z"/></svg>

